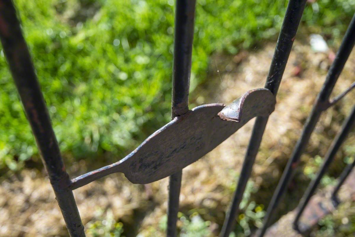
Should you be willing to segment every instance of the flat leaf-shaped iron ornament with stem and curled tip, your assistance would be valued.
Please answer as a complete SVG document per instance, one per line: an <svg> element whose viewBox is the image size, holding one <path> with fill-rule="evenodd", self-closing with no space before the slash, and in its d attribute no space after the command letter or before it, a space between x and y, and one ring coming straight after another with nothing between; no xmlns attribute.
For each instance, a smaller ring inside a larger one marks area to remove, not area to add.
<svg viewBox="0 0 355 237"><path fill-rule="evenodd" d="M271 114L275 97L265 88L246 92L229 106L206 104L166 124L121 161L72 179L76 189L111 173L121 172L132 183L151 183L197 161L250 119Z"/></svg>

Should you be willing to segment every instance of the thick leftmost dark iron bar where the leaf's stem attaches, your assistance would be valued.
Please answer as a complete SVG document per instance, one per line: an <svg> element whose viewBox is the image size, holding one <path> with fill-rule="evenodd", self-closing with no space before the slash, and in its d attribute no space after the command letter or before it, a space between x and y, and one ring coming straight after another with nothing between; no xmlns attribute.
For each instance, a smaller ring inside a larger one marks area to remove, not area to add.
<svg viewBox="0 0 355 237"><path fill-rule="evenodd" d="M65 171L31 56L11 0L0 0L0 38L70 236L85 236L73 192L68 188L69 175Z"/></svg>

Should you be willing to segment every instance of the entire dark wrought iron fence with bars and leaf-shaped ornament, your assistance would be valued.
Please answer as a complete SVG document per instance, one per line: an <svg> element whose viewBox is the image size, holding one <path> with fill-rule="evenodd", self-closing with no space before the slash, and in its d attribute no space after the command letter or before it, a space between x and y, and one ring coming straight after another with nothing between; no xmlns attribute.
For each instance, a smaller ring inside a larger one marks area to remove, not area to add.
<svg viewBox="0 0 355 237"><path fill-rule="evenodd" d="M256 117L240 178L220 233L221 237L229 236L234 228L235 217L239 211L239 204L246 183L251 175L268 117L274 110L275 97L305 4L306 0L290 0L288 3L265 88L248 91L228 106L207 104L189 110L189 84L196 0L177 0L172 121L149 136L136 150L119 162L70 179L62 161L58 142L51 126L27 44L21 32L15 7L11 0L0 0L0 38L3 50L70 236L85 236L84 226L72 190L115 172L122 172L132 183L141 184L170 176L167 236L176 236L182 169L213 150L246 122ZM263 227L257 232L257 236L262 237L269 227L273 214L285 189L288 187L294 169L297 167L320 115L355 87L354 83L339 96L329 99L354 43L355 16L351 20L323 87L306 120L302 134L268 206ZM302 223L299 223L300 216L315 192L320 179L333 161L335 153L339 150L354 124L355 107L329 148L316 178L308 186L299 203L296 218L293 222L295 230L299 232L304 230ZM338 190L354 166L355 161L349 164L341 174L339 183L332 194L334 205L339 203Z"/></svg>

